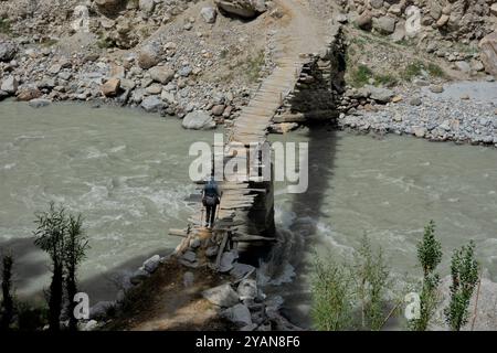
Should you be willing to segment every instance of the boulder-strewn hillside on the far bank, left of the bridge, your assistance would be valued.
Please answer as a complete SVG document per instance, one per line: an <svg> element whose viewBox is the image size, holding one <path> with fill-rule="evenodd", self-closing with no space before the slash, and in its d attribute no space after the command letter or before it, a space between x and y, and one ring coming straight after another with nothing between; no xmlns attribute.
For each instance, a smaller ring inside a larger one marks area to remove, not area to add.
<svg viewBox="0 0 497 353"><path fill-rule="evenodd" d="M0 2L0 97L33 106L104 100L211 128L272 66L264 1L24 2Z"/></svg>

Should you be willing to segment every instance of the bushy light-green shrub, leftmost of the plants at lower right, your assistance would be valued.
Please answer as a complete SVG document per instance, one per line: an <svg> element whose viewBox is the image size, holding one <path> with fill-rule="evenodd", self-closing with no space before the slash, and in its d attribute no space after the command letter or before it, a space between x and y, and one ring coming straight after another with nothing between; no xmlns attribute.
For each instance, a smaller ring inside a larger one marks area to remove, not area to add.
<svg viewBox="0 0 497 353"><path fill-rule="evenodd" d="M345 268L319 259L313 277L311 315L317 330L347 330L352 323L350 278Z"/></svg>

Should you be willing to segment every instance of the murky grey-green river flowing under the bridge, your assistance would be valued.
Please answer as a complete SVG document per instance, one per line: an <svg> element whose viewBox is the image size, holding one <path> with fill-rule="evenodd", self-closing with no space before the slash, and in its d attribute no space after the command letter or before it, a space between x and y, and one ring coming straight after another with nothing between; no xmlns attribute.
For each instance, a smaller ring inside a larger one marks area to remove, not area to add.
<svg viewBox="0 0 497 353"><path fill-rule="evenodd" d="M0 126L0 247L15 254L21 296L49 286L49 261L33 246L32 232L34 213L53 200L85 218L92 248L82 288L93 300L113 299L119 275L178 244L167 232L184 225L190 212L183 201L194 192L188 149L213 141L212 131L186 131L175 118L74 104L32 109L4 101ZM452 250L475 239L478 258L497 281L494 148L325 128L272 139L309 143L308 191L286 194L276 184L283 242L272 263L275 286L267 286L285 293L297 323L309 324L315 253L342 259L367 234L385 252L392 276L417 276L416 243L430 220L443 243L443 276Z"/></svg>

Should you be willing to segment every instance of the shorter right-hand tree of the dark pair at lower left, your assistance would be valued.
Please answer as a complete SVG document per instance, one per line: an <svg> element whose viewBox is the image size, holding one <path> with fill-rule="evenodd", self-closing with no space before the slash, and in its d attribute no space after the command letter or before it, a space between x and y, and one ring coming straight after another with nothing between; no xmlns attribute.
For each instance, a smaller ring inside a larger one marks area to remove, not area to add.
<svg viewBox="0 0 497 353"><path fill-rule="evenodd" d="M66 270L65 288L67 292L67 317L70 318L70 330L77 329L77 319L74 317L74 296L77 293L77 267L86 256L88 240L83 232L83 220L81 215L70 215L67 218L67 238L64 248L64 263Z"/></svg>

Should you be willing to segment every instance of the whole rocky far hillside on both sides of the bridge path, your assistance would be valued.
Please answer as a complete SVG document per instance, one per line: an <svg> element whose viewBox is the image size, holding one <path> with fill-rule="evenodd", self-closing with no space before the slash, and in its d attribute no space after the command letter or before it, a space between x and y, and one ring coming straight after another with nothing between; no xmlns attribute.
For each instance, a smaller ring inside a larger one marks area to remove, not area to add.
<svg viewBox="0 0 497 353"><path fill-rule="evenodd" d="M495 0L303 3L320 22L345 28L343 114L399 101L384 90L392 87L497 75ZM0 99L104 101L190 115L186 128L230 125L274 66L275 38L292 17L283 4L0 1Z"/></svg>

